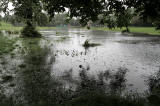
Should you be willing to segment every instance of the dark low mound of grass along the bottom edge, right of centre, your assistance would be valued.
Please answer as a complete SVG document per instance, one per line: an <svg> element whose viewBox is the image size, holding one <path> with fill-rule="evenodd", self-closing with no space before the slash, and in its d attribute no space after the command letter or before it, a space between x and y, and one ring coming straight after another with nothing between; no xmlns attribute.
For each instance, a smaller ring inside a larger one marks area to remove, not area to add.
<svg viewBox="0 0 160 106"><path fill-rule="evenodd" d="M144 106L143 101L143 99L139 101L119 95L87 92L87 94L73 99L68 106Z"/></svg>

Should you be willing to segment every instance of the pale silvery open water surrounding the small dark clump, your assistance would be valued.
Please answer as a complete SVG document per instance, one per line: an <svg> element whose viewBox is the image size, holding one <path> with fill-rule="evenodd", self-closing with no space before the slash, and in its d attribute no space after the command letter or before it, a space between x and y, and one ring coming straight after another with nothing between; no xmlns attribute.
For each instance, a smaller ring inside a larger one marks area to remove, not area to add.
<svg viewBox="0 0 160 106"><path fill-rule="evenodd" d="M147 90L146 78L159 70L159 37L127 36L116 32L93 31L85 29L58 30L66 40L54 43L56 60L52 74L63 76L72 70L72 77L79 76L80 65L89 68L88 75L97 76L106 70L117 71L126 68L126 90ZM42 31L48 39L59 37L56 31ZM100 43L100 46L84 48L85 40Z"/></svg>

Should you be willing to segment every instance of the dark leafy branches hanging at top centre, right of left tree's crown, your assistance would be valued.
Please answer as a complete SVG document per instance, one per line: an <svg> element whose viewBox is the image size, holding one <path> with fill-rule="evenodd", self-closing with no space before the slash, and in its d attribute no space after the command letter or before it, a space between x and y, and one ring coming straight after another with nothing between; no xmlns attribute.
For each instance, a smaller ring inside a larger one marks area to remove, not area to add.
<svg viewBox="0 0 160 106"><path fill-rule="evenodd" d="M45 10L51 17L55 12L64 12L69 8L68 15L72 17L80 17L80 22L86 24L89 20L96 20L98 14L102 12L104 1L88 0L44 0Z"/></svg>

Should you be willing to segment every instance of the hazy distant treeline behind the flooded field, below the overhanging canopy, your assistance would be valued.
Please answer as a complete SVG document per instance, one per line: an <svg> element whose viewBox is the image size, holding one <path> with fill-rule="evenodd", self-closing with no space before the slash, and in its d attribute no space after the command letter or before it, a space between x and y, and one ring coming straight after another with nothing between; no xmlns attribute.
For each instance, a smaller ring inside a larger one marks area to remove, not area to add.
<svg viewBox="0 0 160 106"><path fill-rule="evenodd" d="M18 20L15 15L0 16L0 21L11 23L14 26L24 26L24 23ZM35 24L38 26L81 26L78 18L68 19L67 14L56 14L53 19L49 19L46 14L41 14L37 17L37 23ZM107 26L107 24L101 24L100 20L97 20L92 23L92 26L102 27ZM129 26L152 27L153 24L150 20L143 20L139 16L134 16Z"/></svg>

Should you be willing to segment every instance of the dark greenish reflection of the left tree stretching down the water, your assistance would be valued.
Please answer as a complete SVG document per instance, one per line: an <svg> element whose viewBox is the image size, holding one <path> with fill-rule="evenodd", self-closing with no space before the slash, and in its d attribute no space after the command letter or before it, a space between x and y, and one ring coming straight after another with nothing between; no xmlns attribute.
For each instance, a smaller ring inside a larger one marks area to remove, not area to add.
<svg viewBox="0 0 160 106"><path fill-rule="evenodd" d="M40 41L35 45L23 42L26 55L19 70L15 101L26 106L62 105L63 88L54 76L51 76L55 58L46 46L41 47Z"/></svg>

